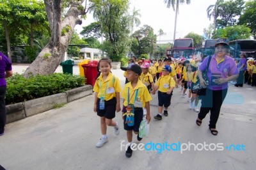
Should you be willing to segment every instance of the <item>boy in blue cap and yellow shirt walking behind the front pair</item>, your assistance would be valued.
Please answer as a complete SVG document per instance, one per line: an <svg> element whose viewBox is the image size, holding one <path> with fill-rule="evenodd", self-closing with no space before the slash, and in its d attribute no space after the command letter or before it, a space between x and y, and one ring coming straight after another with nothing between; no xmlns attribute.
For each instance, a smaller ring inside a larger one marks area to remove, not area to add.
<svg viewBox="0 0 256 170"><path fill-rule="evenodd" d="M158 90L158 114L154 116L156 120L162 120L162 111L164 106L164 116L168 116L168 107L171 105L172 91L175 88L175 81L170 76L172 68L170 65L164 65L162 75L157 80L155 88L151 91L154 95Z"/></svg>

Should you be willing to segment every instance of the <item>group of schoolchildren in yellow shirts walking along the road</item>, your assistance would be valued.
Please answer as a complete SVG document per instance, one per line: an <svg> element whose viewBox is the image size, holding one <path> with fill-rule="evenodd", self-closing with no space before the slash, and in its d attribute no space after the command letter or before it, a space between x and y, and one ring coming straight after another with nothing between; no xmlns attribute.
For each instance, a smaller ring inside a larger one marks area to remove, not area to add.
<svg viewBox="0 0 256 170"><path fill-rule="evenodd" d="M186 59L173 62L171 58L165 58L163 61L159 59L153 62L143 59L137 64L136 58L132 57L127 67L121 67L125 71L126 79L124 89L121 89L119 79L111 73L109 59L100 59L98 65L100 75L93 87L95 92L93 110L100 116L102 132L102 137L96 146L101 147L108 142L107 126L114 127L115 134L119 134L118 122L113 121L113 118L115 118L115 112L121 110L120 98L124 98L122 117L124 129L127 130L128 147L125 156L128 158L132 156L132 131L137 135L137 140L141 141L140 123L143 118L148 123L151 120L149 102L152 97L150 93L154 95L158 89L158 113L154 116L156 120L162 120L163 109L164 116L168 116L173 89L178 88L179 84L182 87L182 97L185 97L186 90L189 89L189 109L199 112L198 95L191 90L191 82L196 81L196 62L198 61L189 63ZM193 107L194 101L195 107Z"/></svg>

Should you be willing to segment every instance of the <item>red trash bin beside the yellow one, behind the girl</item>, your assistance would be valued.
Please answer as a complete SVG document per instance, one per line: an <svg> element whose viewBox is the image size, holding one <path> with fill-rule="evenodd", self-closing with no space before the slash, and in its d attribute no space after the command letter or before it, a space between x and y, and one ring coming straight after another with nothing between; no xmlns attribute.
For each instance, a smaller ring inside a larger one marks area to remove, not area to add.
<svg viewBox="0 0 256 170"><path fill-rule="evenodd" d="M97 65L85 64L82 66L84 68L84 77L86 77L86 84L94 86L96 81L95 78L98 74Z"/></svg>

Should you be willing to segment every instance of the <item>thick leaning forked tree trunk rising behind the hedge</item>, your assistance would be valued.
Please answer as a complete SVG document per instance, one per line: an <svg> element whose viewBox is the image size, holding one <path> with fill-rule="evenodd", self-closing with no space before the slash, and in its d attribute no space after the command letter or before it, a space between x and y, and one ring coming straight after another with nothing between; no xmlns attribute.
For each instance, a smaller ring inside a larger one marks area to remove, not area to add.
<svg viewBox="0 0 256 170"><path fill-rule="evenodd" d="M77 24L82 24L79 15L84 14L84 9L81 8L83 1L72 3L67 15L61 20L62 1L44 0L51 28L51 39L24 72L24 77L28 77L30 74L48 75L55 72L67 50L74 27ZM61 35L61 33L65 33L65 35Z"/></svg>

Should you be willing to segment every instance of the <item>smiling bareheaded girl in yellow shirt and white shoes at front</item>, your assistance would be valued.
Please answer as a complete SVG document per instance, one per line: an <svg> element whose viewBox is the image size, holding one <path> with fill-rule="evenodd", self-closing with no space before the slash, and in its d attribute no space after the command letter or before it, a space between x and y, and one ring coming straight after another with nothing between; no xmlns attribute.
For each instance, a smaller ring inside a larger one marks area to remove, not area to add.
<svg viewBox="0 0 256 170"><path fill-rule="evenodd" d="M119 127L115 118L115 112L120 108L120 81L111 72L111 62L108 58L99 61L100 76L97 78L93 91L95 92L93 111L100 116L100 130L102 138L96 144L98 148L108 142L107 125L114 127L115 134L119 134Z"/></svg>

